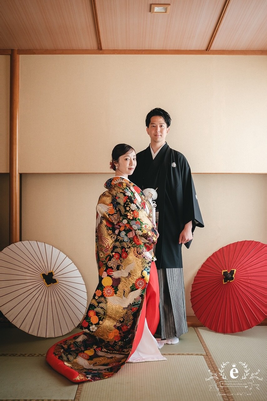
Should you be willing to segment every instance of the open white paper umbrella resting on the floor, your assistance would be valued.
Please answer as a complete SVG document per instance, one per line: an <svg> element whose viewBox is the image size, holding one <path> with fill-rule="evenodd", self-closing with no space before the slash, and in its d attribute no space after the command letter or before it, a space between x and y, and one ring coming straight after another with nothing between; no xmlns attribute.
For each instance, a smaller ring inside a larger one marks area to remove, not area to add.
<svg viewBox="0 0 267 401"><path fill-rule="evenodd" d="M81 322L87 292L79 270L43 242L20 241L0 252L0 310L38 337L69 333Z"/></svg>

